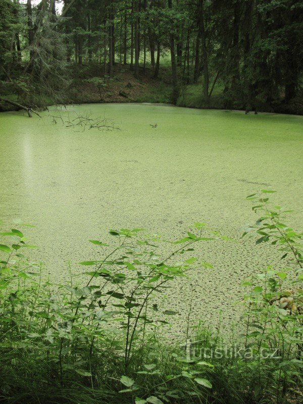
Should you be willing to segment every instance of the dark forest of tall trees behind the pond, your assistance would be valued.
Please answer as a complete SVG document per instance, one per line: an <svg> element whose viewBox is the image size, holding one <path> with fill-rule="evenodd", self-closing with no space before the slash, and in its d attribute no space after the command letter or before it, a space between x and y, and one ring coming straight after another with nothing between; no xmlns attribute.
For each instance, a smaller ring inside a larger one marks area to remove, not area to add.
<svg viewBox="0 0 303 404"><path fill-rule="evenodd" d="M26 105L70 103L77 78L102 88L125 65L171 83L172 104L199 83L206 107L302 112L301 2L1 0L0 24L0 92Z"/></svg>

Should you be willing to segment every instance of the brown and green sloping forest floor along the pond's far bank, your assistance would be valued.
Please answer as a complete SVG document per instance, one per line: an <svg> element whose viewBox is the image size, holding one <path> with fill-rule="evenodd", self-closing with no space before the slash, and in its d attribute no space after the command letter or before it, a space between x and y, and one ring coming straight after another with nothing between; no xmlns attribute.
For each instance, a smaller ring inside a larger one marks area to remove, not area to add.
<svg viewBox="0 0 303 404"><path fill-rule="evenodd" d="M73 66L73 79L66 94L66 104L94 104L94 103L171 103L171 72L169 66L161 66L159 77L154 78L154 72L147 66L140 68L139 79L129 65L117 63L114 66L113 78L104 76L100 65ZM106 77L104 79L104 77ZM89 82L92 78L104 79L100 86ZM16 94L3 94L6 98L19 102ZM35 104L40 108L53 105L51 98L38 96ZM235 110L244 110L241 101L233 107ZM223 86L218 80L209 101L203 97L203 82L200 79L196 84L183 85L177 106L200 109L226 109ZM0 112L16 110L11 105L0 103ZM303 115L303 95L286 103L260 104L259 112L272 112L282 114Z"/></svg>

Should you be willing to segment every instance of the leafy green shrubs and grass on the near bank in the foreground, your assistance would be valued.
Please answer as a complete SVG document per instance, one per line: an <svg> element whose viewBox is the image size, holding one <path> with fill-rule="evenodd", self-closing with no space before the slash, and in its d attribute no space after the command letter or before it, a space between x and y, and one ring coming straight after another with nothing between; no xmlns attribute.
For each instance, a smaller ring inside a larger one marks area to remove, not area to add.
<svg viewBox="0 0 303 404"><path fill-rule="evenodd" d="M80 263L85 283L77 284L71 276L70 283L55 285L44 279L42 264L24 256L27 248L34 247L23 234L22 227L29 225L16 221L12 229L3 231L3 399L23 403L299 402L301 234L281 226L282 216L289 211L271 208L270 193L249 195L248 199L258 198L253 209L262 216L244 234L257 233L266 236L262 242L278 245L284 255L291 256L287 256L287 268L269 266L244 283L250 291L243 301L242 333L227 343L220 326L214 331L197 323L195 339L186 342L185 351L184 345L169 337L157 338L156 330L174 321L177 314L173 304L159 306L157 295L175 279L187 278L200 262L192 257L197 242L222 242L228 237L205 223L195 223L185 237L173 241L139 228L112 229L114 246L89 240L102 258L97 254L97 259ZM163 243L172 247L167 256L161 254ZM204 268L212 265L202 261L201 267L203 275ZM192 354L188 342L212 355L201 355L199 350ZM241 355L222 354L233 345L238 345Z"/></svg>

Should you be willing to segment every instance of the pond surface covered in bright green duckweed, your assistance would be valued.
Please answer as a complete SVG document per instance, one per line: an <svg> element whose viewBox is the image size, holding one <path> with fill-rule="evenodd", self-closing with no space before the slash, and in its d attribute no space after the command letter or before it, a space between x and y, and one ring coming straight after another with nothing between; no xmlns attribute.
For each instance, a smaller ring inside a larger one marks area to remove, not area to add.
<svg viewBox="0 0 303 404"><path fill-rule="evenodd" d="M81 131L52 123L48 114L92 113L120 131ZM213 269L196 267L175 282L165 309L177 310L177 329L192 319L226 324L237 319L241 281L268 264L280 268L271 245L241 239L240 227L257 216L245 197L275 189L275 203L294 209L290 224L302 225L303 117L193 110L164 105L102 104L51 109L43 118L22 112L0 115L1 209L8 225L20 218L45 263L45 275L68 278L68 261L98 259L88 239L108 241L110 228L143 227L172 239L192 223L207 222L237 242L211 241L194 252ZM154 128L150 125L157 124Z"/></svg>

